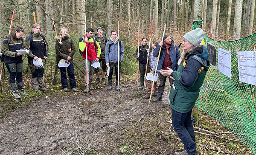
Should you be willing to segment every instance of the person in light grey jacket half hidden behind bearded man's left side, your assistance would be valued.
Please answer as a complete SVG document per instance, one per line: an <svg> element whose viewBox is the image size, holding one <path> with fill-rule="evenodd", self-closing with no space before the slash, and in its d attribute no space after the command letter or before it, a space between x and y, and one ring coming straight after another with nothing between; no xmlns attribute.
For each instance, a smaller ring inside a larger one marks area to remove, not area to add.
<svg viewBox="0 0 256 155"><path fill-rule="evenodd" d="M157 47L157 45L159 44L159 41L154 40L152 43L152 52L148 58L149 64L150 64L150 69L151 69L151 73L154 75L154 72L156 70L157 67L157 57L153 56L154 53L154 49ZM147 93L143 96L143 99L149 99L150 98L150 93L151 93L151 87L152 87L152 81L150 80L146 80L146 84L147 84ZM158 93L158 82L154 82L154 93L152 93L152 96L157 96Z"/></svg>

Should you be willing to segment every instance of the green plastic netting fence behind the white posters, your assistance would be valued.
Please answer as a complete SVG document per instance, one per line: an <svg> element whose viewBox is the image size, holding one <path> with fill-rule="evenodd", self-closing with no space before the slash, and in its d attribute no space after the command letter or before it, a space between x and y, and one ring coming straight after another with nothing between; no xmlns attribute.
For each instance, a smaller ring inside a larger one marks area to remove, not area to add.
<svg viewBox="0 0 256 155"><path fill-rule="evenodd" d="M193 23L192 29L197 28L197 22ZM212 39L204 34L204 40L216 46L216 68L209 68L195 106L227 127L255 155L256 88L254 85L239 82L236 48L238 51L254 51L256 33L226 42ZM218 72L217 47L231 51L231 82L229 77Z"/></svg>

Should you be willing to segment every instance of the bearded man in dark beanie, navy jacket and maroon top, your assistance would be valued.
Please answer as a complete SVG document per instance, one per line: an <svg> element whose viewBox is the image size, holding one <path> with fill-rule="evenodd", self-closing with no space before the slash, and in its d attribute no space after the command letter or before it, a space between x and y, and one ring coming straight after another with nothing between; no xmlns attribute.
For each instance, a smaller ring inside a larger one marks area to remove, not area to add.
<svg viewBox="0 0 256 155"><path fill-rule="evenodd" d="M172 70L177 70L178 69L178 65L177 62L180 59L180 51L179 51L179 47L174 43L174 41L172 40L171 36L167 33L164 34L163 36L163 41L160 42L157 47L154 50L153 56L154 57L158 57L159 54L159 50L160 47L161 51L160 51L160 58L159 58L159 62L157 65L157 70L160 69L164 69L166 70L167 68L172 68ZM166 78L167 76L163 76L161 73L157 72L159 75L159 86L158 86L158 93L157 93L157 97L155 99L153 99L153 101L161 101L162 100L162 96L163 96L163 92L164 92L164 87L165 87L165 83L166 83ZM170 82L170 86L173 83L173 79L169 78L169 82Z"/></svg>

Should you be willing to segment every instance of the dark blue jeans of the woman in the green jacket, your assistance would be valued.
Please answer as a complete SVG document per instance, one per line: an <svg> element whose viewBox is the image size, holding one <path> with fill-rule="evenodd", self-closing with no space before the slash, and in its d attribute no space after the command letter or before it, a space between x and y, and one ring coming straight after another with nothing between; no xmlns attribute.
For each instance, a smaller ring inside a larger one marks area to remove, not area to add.
<svg viewBox="0 0 256 155"><path fill-rule="evenodd" d="M191 113L192 110L188 113L179 113L172 109L172 126L183 142L184 149L189 155L195 155L197 152L195 133L191 122Z"/></svg>

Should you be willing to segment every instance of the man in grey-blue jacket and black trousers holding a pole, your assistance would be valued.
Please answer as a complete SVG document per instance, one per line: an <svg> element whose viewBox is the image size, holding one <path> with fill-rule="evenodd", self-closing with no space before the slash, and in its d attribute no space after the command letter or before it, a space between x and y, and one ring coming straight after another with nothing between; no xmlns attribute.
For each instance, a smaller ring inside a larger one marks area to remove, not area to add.
<svg viewBox="0 0 256 155"><path fill-rule="evenodd" d="M118 90L118 79L120 81L120 77L118 77L118 61L119 61L119 70L121 68L121 62L124 57L124 45L122 41L117 37L117 33L115 30L111 31L110 39L108 40L105 47L105 59L106 65L109 66L109 76L108 76L108 86L107 90L112 89L112 75L113 68L115 66L116 73L116 90ZM119 42L119 60L118 60L118 42Z"/></svg>

